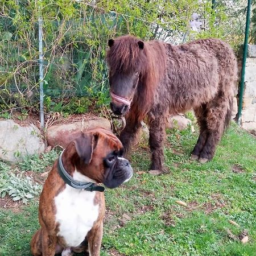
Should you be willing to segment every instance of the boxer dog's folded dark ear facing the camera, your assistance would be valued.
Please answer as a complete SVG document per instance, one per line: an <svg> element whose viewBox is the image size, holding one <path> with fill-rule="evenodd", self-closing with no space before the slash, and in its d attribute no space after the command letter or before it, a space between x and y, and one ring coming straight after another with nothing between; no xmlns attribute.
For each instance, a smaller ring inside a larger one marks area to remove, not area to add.
<svg viewBox="0 0 256 256"><path fill-rule="evenodd" d="M98 134L82 134L81 137L75 139L76 152L80 159L89 164L92 160L93 150L98 142Z"/></svg>

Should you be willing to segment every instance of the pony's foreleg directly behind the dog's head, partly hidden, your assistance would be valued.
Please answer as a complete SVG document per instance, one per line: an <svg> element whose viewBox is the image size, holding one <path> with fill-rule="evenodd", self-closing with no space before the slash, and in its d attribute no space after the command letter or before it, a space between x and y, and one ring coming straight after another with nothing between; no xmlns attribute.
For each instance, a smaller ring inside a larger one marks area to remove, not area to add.
<svg viewBox="0 0 256 256"><path fill-rule="evenodd" d="M140 128L141 122L138 122L137 120L134 120L129 117L126 119L126 126L121 131L121 134L119 136L119 139L122 142L123 147L125 149L126 155L129 153L131 146L136 140Z"/></svg>

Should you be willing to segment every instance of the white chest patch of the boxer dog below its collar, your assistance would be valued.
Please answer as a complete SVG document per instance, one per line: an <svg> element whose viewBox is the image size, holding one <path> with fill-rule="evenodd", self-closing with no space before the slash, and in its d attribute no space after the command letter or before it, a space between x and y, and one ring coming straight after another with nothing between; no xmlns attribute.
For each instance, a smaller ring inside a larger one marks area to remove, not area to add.
<svg viewBox="0 0 256 256"><path fill-rule="evenodd" d="M99 205L94 205L95 194L66 185L55 197L57 235L65 239L67 246L80 245L97 220Z"/></svg>

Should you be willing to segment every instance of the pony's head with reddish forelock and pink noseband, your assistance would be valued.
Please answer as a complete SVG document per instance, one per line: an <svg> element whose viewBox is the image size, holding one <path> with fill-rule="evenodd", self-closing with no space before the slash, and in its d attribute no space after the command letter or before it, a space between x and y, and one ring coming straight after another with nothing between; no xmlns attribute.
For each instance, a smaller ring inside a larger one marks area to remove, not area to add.
<svg viewBox="0 0 256 256"><path fill-rule="evenodd" d="M109 66L110 108L114 114L125 115L143 73L144 43L126 35L110 39L106 60Z"/></svg>

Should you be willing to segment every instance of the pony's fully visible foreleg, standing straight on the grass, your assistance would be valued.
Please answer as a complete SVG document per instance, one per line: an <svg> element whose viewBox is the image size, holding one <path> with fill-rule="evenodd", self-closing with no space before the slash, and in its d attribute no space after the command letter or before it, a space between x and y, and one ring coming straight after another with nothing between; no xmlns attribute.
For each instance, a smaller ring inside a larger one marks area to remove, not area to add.
<svg viewBox="0 0 256 256"><path fill-rule="evenodd" d="M163 162L164 162L164 151L163 144L164 138L166 136L166 123L164 122L164 117L159 116L150 123L150 150L152 152L151 160L151 170L159 170L164 172Z"/></svg>

